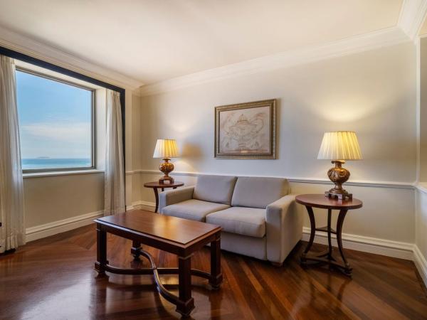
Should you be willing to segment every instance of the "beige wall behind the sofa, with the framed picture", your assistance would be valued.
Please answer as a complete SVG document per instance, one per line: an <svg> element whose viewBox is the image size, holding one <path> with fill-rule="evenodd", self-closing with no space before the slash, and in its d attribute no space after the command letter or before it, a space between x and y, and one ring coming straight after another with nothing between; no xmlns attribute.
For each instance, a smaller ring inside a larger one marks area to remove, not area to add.
<svg viewBox="0 0 427 320"><path fill-rule="evenodd" d="M214 159L214 107L278 99L278 159ZM136 115L135 115L136 116ZM175 138L182 156L176 171L289 178L327 178L317 160L323 132L354 130L364 160L349 161L352 181L416 180L416 48L400 44L293 68L209 82L142 97L135 169L156 170L157 138ZM136 174L139 186L158 178ZM188 183L194 176L179 176ZM330 186L292 183L296 193ZM344 232L414 242L414 194L407 188L350 186L364 208L350 213ZM135 189L142 201L151 191ZM307 225L307 222L306 222Z"/></svg>

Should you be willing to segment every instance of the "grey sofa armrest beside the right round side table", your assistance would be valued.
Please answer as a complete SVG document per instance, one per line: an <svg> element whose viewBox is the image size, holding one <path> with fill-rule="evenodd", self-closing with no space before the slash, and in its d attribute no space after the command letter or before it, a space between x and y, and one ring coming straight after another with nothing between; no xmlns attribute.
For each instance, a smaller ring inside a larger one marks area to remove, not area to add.
<svg viewBox="0 0 427 320"><path fill-rule="evenodd" d="M265 213L267 260L282 263L302 238L303 216L297 212L295 194L270 203Z"/></svg>

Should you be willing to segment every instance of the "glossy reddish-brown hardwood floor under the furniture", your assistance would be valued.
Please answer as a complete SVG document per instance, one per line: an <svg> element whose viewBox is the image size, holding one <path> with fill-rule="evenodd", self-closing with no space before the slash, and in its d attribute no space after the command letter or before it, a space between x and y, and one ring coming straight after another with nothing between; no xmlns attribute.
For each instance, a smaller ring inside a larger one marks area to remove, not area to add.
<svg viewBox="0 0 427 320"><path fill-rule="evenodd" d="M108 236L108 260L135 266L132 243ZM354 268L303 268L295 247L283 267L222 252L223 286L208 289L193 277L192 319L427 319L427 294L413 262L346 250ZM315 245L315 249L324 247ZM149 248L159 266L174 255ZM28 243L0 257L0 319L179 319L150 276L97 279L95 225ZM144 263L144 262L143 262ZM209 270L209 249L193 266ZM176 290L177 278L164 277Z"/></svg>

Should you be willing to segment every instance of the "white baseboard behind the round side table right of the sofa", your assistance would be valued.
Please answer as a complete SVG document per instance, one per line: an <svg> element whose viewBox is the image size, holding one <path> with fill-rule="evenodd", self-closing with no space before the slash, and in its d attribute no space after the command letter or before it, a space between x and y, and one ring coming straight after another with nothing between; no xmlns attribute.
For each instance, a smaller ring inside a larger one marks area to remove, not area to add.
<svg viewBox="0 0 427 320"><path fill-rule="evenodd" d="M310 228L302 228L302 240L308 241L309 238ZM326 233L316 233L315 243L327 245ZM337 246L335 235L332 236L332 245ZM413 243L371 238L363 235L343 233L342 245L346 249L369 252L376 255L386 255L387 257L397 257L406 260L413 260L414 255Z"/></svg>

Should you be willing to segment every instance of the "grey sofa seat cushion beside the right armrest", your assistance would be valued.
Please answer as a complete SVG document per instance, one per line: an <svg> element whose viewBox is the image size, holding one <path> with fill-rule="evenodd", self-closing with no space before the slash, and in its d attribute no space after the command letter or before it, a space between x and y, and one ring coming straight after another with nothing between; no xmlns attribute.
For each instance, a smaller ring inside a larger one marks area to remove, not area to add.
<svg viewBox="0 0 427 320"><path fill-rule="evenodd" d="M263 238L265 235L265 209L231 207L210 213L207 223L221 225L223 231Z"/></svg>

